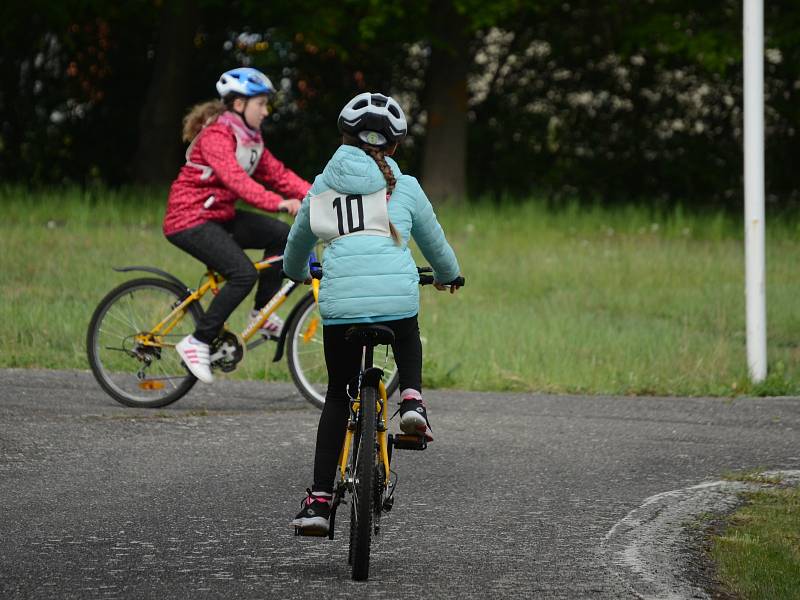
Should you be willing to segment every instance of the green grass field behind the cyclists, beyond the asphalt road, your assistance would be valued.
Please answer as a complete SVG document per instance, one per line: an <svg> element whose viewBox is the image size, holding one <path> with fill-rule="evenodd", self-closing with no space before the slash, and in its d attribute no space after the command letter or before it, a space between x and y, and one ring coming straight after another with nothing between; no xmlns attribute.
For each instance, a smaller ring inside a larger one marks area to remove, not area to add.
<svg viewBox="0 0 800 600"><path fill-rule="evenodd" d="M159 266L196 284L201 265L161 233L164 198L0 190L0 367L88 368L91 313L128 277L113 265ZM549 210L536 200L438 213L468 283L455 296L422 292L427 386L800 393L797 219L767 215L770 374L751 386L740 220L633 207ZM256 351L231 376L285 380L287 372Z"/></svg>

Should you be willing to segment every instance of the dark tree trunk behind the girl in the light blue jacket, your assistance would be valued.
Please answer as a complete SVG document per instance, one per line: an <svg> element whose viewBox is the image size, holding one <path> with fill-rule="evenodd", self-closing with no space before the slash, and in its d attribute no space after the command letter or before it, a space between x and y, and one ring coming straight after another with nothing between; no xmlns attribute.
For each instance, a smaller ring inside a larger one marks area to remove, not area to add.
<svg viewBox="0 0 800 600"><path fill-rule="evenodd" d="M422 184L433 200L463 202L467 181L466 21L450 2L434 3L431 59L425 84L427 134Z"/></svg>

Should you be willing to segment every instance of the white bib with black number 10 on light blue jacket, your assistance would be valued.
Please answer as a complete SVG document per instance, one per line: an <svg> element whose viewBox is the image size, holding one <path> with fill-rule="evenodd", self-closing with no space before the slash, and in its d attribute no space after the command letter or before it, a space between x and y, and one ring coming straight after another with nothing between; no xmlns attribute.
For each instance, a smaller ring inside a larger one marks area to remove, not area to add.
<svg viewBox="0 0 800 600"><path fill-rule="evenodd" d="M345 235L392 235L386 188L366 195L326 190L309 201L311 231L325 243Z"/></svg>

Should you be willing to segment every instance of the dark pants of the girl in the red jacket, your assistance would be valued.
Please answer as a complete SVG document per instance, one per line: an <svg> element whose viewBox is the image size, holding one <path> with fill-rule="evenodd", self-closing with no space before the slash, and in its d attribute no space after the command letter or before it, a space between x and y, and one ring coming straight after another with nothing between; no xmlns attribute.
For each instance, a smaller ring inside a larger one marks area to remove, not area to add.
<svg viewBox="0 0 800 600"><path fill-rule="evenodd" d="M167 236L181 250L208 265L226 279L208 307L197 330L201 342L210 343L222 325L258 280L255 308L264 306L281 285L280 265L259 272L243 248L263 249L264 257L283 254L289 226L266 215L236 211L236 216L222 223L209 221Z"/></svg>

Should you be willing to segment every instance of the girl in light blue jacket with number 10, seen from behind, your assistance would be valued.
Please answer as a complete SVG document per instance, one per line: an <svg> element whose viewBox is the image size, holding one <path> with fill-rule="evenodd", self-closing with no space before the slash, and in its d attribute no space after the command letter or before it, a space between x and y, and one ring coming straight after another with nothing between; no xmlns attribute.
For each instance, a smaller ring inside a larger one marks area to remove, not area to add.
<svg viewBox="0 0 800 600"><path fill-rule="evenodd" d="M358 375L361 348L345 340L355 323L381 323L395 335L400 375L400 429L433 440L422 399L419 275L408 242L417 242L434 270L435 285L459 276L455 254L431 203L414 177L403 175L394 154L407 132L400 105L365 92L338 120L342 145L318 175L297 214L284 251L284 271L309 277L307 257L326 244L319 292L328 389L317 430L314 484L292 525L328 531L336 462L349 412L348 383ZM456 286L450 287L451 292Z"/></svg>

